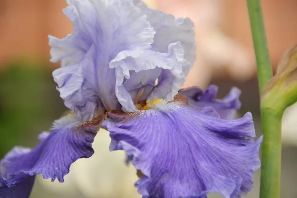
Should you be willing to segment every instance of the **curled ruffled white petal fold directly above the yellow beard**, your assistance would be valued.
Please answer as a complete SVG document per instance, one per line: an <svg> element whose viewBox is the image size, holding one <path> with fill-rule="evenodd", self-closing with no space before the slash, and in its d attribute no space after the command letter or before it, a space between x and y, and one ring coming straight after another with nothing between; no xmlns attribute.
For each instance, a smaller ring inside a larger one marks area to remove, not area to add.
<svg viewBox="0 0 297 198"><path fill-rule="evenodd" d="M141 89L145 89L142 99L147 101L172 100L191 68L190 62L184 59L180 42L170 44L167 53L148 49L139 58L112 61L110 66L116 68L116 96L125 112L136 110L134 99Z"/></svg>

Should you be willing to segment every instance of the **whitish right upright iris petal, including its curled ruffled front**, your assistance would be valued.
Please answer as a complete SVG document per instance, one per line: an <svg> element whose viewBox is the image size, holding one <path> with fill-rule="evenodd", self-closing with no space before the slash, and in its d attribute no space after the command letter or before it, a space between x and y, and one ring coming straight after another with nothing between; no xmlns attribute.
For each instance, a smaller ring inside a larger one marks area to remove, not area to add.
<svg viewBox="0 0 297 198"><path fill-rule="evenodd" d="M144 91L140 100L145 99L147 102L159 98L167 101L172 100L184 84L191 64L196 59L194 24L189 18L175 19L171 14L148 8L141 0L134 0L134 5L146 13L148 22L154 28L156 34L152 48L137 60L132 60L139 64L137 70L146 70L145 72L136 71L131 74L130 69L133 67L130 66L131 63L127 63L130 60L121 63L122 67L127 68L127 71L130 70L130 75L128 75L128 72L118 70L119 76L124 76L123 73L127 74L124 80L122 80L123 77L117 79L118 85L121 86L117 88L117 98L120 100L125 112L135 111L134 99L141 89L144 89ZM173 46L176 46L175 43L179 43L181 48L173 48ZM175 54L174 56L167 56L167 59L171 58L170 63L168 63L169 60L164 61L163 54L166 53ZM172 66L169 68L166 68L166 65L165 67L161 66L164 63ZM151 69L153 71L150 71ZM128 84L127 88L125 85L122 86L121 83L125 80L127 81L125 83ZM158 85L154 88L155 80L158 80ZM130 99L129 95L132 99Z"/></svg>

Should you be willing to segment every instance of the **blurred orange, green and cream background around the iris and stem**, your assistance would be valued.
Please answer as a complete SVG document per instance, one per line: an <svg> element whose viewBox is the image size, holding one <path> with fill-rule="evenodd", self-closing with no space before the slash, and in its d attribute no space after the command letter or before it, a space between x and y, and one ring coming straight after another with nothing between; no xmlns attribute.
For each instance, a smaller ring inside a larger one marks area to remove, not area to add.
<svg viewBox="0 0 297 198"><path fill-rule="evenodd" d="M243 115L254 116L260 135L255 57L245 0L146 0L149 6L190 17L196 26L197 61L185 87L209 84L225 96L242 89ZM48 35L71 33L63 15L65 0L0 0L0 157L14 145L34 147L37 135L66 110L55 90L49 62ZM297 42L297 0L262 0L268 47L274 69L282 54ZM283 118L282 198L297 198L297 105ZM75 162L63 184L36 180L31 198L140 198L133 187L133 167L124 153L109 153L106 131L98 134L95 154ZM253 192L258 197L259 171ZM211 197L211 196L210 196ZM213 195L212 197L220 197Z"/></svg>

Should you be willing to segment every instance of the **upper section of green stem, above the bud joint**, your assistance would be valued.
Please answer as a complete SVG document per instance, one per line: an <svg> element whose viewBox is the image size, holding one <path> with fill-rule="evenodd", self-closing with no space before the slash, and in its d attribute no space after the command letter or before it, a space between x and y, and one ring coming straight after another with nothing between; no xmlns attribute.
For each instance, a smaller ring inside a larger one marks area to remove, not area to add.
<svg viewBox="0 0 297 198"><path fill-rule="evenodd" d="M252 39L257 60L259 91L272 78L272 68L266 41L260 0L247 0Z"/></svg>

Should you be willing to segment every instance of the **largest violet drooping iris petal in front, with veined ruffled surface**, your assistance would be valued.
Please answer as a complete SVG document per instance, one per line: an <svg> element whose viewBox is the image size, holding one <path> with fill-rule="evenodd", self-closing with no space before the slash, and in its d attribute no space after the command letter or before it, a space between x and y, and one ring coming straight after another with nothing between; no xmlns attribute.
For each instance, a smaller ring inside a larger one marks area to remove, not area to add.
<svg viewBox="0 0 297 198"><path fill-rule="evenodd" d="M252 116L237 120L213 117L180 102L153 102L149 110L108 113L110 149L124 149L145 176L137 183L144 198L225 198L246 195L260 167Z"/></svg>

